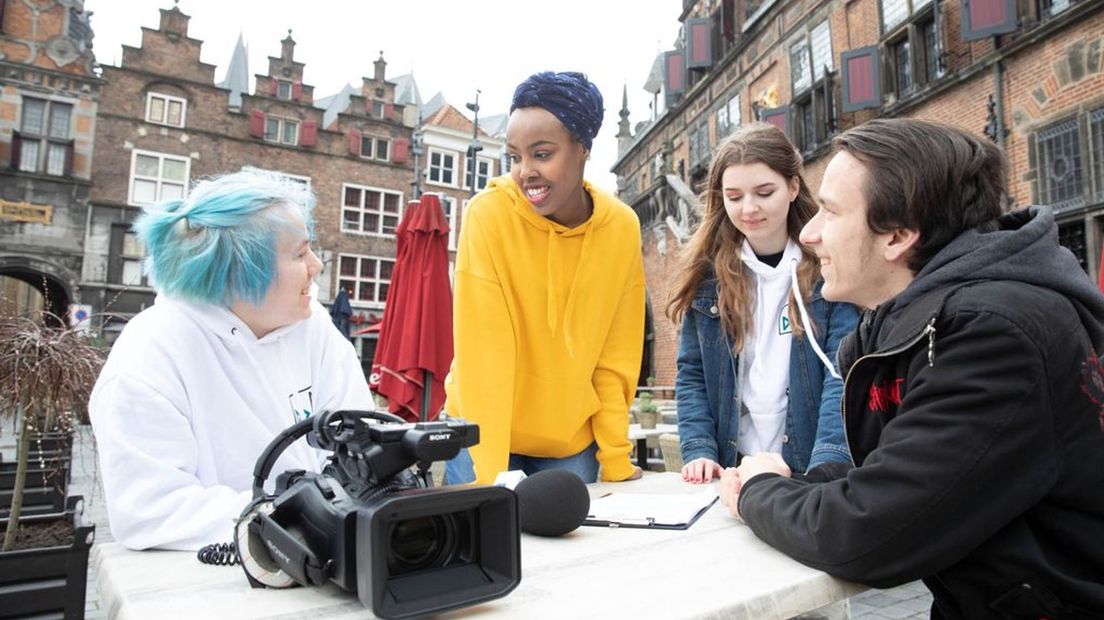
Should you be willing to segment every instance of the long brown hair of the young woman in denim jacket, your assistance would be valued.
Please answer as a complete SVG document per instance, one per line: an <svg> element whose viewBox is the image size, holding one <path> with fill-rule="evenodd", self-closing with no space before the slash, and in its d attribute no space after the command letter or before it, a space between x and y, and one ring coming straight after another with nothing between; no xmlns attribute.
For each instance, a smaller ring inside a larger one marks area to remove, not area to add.
<svg viewBox="0 0 1104 620"><path fill-rule="evenodd" d="M716 148L709 169L709 185L702 194L705 213L682 256L673 292L667 302L667 317L675 322L682 320L702 279L712 269L718 281L716 307L721 325L732 338L735 351L743 349L744 334L754 327L755 312L753 291L740 259L744 235L724 211L721 178L730 165L742 163L763 163L787 181L797 179L797 197L789 204L786 215L786 232L795 243L802 227L817 212L813 194L802 177L802 156L777 127L765 122L745 125ZM800 247L803 259L797 267L797 284L805 296L803 301L807 301L819 275L819 264L811 250ZM789 321L797 336L806 329L814 329L813 325L803 325L793 292L789 296Z"/></svg>

